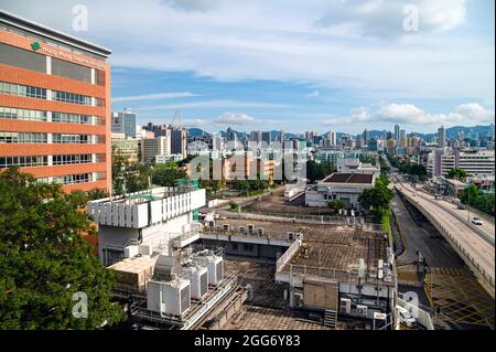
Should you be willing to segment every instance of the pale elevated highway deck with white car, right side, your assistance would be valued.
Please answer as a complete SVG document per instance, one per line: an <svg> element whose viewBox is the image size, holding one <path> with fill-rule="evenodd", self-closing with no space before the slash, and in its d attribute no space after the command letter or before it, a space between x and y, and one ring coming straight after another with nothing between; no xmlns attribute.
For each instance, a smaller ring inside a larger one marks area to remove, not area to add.
<svg viewBox="0 0 496 352"><path fill-rule="evenodd" d="M427 213L431 214L446 232L464 248L470 256L485 273L492 278L494 289L495 275L495 252L494 252L494 225L490 233L490 226L483 232L483 236L473 228L465 217L452 211L451 206L439 203L434 196L423 192L418 192L412 185L403 182L395 183L395 188L410 196L414 203L421 206ZM448 203L448 202L446 202ZM453 204L454 206L454 204ZM486 232L487 231L487 232ZM493 243L490 243L490 238Z"/></svg>

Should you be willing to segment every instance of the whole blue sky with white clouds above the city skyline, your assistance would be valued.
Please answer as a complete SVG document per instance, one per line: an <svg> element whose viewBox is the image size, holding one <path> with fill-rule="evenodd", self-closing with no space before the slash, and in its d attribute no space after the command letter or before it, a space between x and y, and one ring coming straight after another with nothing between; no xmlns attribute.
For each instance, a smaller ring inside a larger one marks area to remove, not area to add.
<svg viewBox="0 0 496 352"><path fill-rule="evenodd" d="M76 4L87 9L87 31L74 26ZM0 0L4 10L111 49L112 107L132 108L139 122L170 122L180 109L185 125L208 131L294 132L490 122L494 6Z"/></svg>

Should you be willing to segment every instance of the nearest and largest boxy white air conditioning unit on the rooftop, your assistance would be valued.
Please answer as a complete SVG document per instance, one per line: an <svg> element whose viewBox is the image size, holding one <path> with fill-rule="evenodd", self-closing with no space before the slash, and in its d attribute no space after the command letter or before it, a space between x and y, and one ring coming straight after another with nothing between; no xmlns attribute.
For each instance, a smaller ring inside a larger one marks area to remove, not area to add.
<svg viewBox="0 0 496 352"><path fill-rule="evenodd" d="M190 280L151 280L147 285L147 309L161 316L183 316L191 307Z"/></svg>

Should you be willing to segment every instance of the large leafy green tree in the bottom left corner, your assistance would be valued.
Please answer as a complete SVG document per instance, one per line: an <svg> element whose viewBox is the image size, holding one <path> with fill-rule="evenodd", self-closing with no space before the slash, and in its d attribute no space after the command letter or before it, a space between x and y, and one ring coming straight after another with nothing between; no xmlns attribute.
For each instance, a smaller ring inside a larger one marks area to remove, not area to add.
<svg viewBox="0 0 496 352"><path fill-rule="evenodd" d="M115 274L91 254L95 235L82 193L0 173L0 329L95 329L125 318L111 302ZM87 296L88 316L73 316L73 295Z"/></svg>

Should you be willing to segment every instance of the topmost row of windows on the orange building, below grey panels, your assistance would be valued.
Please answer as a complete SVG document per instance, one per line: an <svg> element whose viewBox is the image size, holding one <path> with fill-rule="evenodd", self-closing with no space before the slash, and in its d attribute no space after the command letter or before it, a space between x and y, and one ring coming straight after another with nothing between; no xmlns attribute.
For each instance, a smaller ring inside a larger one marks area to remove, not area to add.
<svg viewBox="0 0 496 352"><path fill-rule="evenodd" d="M36 98L36 99L47 98L45 88L24 86L8 82L0 82L0 94L15 95L20 97ZM52 100L91 106L91 97L67 92L53 90ZM97 106L105 106L104 99L96 98L96 103Z"/></svg>

